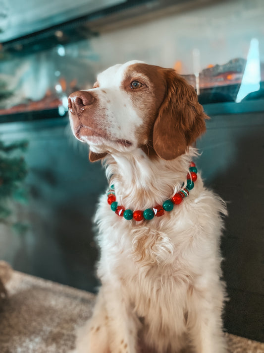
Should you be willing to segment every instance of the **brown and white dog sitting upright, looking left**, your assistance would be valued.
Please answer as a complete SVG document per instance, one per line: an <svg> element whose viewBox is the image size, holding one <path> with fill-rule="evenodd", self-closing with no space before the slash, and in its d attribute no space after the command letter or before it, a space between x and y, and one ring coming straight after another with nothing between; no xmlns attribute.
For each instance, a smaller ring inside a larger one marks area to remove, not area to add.
<svg viewBox="0 0 264 353"><path fill-rule="evenodd" d="M208 117L174 70L132 61L69 97L71 128L103 159L118 205L146 210L186 186L192 144ZM222 200L200 174L190 195L151 220L127 220L100 199L102 282L77 353L224 353L219 239Z"/></svg>

